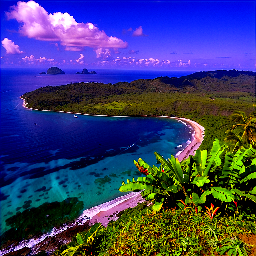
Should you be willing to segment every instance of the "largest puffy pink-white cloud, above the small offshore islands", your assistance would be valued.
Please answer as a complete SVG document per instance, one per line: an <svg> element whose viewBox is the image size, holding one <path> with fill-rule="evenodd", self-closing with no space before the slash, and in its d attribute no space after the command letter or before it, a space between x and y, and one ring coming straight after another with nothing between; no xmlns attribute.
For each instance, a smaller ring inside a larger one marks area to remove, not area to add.
<svg viewBox="0 0 256 256"><path fill-rule="evenodd" d="M48 13L34 1L19 1L6 12L8 19L15 19L22 25L19 33L40 41L58 41L66 51L81 51L83 47L92 47L104 52L109 48L127 48L123 40L107 36L93 23L77 23L69 13ZM109 50L108 50L109 51ZM100 57L100 55L97 55Z"/></svg>

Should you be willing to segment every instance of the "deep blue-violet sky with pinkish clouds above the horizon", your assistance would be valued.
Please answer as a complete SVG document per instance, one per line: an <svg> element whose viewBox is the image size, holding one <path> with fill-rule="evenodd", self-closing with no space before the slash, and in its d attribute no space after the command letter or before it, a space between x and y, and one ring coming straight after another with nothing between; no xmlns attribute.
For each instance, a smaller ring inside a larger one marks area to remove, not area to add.
<svg viewBox="0 0 256 256"><path fill-rule="evenodd" d="M1 0L1 68L255 71L255 3Z"/></svg>

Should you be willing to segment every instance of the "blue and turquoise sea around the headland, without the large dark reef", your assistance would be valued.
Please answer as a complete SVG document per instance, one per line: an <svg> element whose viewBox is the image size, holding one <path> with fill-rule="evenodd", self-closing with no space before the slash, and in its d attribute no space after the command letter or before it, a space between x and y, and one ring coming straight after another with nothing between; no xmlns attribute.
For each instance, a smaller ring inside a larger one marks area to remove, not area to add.
<svg viewBox="0 0 256 256"><path fill-rule="evenodd" d="M88 209L122 196L121 182L141 175L133 159L155 165L154 151L165 158L175 155L193 133L165 117L74 118L72 113L27 109L20 99L47 85L131 82L193 72L95 69L97 75L78 75L82 69L63 69L65 75L38 75L42 71L1 69L1 232L9 229L7 218L27 207L79 197ZM111 180L104 183L106 175Z"/></svg>

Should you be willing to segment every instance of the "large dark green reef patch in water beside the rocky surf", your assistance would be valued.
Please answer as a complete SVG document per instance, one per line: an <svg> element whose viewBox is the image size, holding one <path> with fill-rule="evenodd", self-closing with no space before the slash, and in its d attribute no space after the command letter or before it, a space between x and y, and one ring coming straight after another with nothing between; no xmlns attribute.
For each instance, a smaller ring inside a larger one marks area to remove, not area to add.
<svg viewBox="0 0 256 256"><path fill-rule="evenodd" d="M83 210L83 202L77 197L67 198L62 202L46 202L37 208L28 209L30 203L31 200L25 201L25 210L17 211L16 215L5 221L11 229L1 234L1 248L9 243L17 243L50 232L53 227L59 228L62 224L75 220Z"/></svg>

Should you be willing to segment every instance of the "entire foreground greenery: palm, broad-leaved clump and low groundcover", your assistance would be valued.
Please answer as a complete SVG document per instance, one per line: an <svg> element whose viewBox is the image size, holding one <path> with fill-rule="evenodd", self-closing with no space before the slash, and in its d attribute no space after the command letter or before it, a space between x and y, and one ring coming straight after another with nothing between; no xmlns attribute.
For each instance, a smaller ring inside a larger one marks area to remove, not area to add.
<svg viewBox="0 0 256 256"><path fill-rule="evenodd" d="M99 232L95 225L88 231L94 239L77 234L55 255L254 255L255 243L239 235L256 233L255 112L247 118L236 111L231 118L242 124L230 131L243 128L235 146L215 139L209 154L197 150L181 162L157 152L159 167L134 161L145 177L127 179L119 190L142 191L146 203L125 210L107 228L96 223Z"/></svg>

